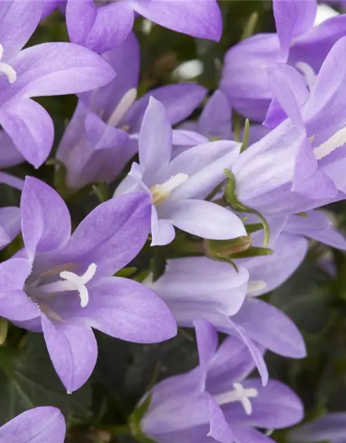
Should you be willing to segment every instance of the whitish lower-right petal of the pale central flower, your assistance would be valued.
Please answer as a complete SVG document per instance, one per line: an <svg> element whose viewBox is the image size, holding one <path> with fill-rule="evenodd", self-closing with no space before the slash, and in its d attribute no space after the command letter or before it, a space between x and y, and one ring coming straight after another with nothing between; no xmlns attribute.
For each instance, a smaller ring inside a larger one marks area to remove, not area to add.
<svg viewBox="0 0 346 443"><path fill-rule="evenodd" d="M237 215L210 201L183 200L170 204L165 213L174 226L206 239L231 239L246 235Z"/></svg>

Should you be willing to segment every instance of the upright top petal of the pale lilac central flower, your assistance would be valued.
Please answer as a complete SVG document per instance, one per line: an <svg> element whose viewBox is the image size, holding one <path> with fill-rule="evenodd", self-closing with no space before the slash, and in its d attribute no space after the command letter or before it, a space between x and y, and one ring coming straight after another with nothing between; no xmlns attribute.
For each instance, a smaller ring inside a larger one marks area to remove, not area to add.
<svg viewBox="0 0 346 443"><path fill-rule="evenodd" d="M172 127L165 107L150 98L139 136L139 162L144 171L166 165L172 154Z"/></svg>

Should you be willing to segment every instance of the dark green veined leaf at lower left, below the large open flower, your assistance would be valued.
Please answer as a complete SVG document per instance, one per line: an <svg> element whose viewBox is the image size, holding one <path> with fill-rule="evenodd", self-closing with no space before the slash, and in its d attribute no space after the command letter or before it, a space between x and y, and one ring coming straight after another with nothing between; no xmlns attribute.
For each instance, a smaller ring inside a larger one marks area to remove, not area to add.
<svg viewBox="0 0 346 443"><path fill-rule="evenodd" d="M68 395L49 359L42 334L28 333L20 350L0 347L0 423L35 406L56 406L65 415L88 417L88 385Z"/></svg>

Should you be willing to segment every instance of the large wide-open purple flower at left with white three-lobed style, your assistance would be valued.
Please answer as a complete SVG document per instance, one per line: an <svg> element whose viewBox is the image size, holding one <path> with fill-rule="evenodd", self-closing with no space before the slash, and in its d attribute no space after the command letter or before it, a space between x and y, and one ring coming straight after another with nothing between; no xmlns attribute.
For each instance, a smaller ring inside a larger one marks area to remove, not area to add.
<svg viewBox="0 0 346 443"><path fill-rule="evenodd" d="M97 357L91 327L138 343L176 334L160 298L138 282L113 275L140 251L150 201L136 193L95 208L71 235L69 210L57 192L26 178L21 195L24 251L0 264L0 314L43 332L68 392L90 377Z"/></svg>

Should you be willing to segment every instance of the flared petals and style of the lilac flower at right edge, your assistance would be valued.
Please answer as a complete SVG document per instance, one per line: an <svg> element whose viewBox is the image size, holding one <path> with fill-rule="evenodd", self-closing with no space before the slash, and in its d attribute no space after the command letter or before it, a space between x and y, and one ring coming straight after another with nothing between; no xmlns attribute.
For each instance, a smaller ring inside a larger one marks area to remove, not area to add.
<svg viewBox="0 0 346 443"><path fill-rule="evenodd" d="M286 134L295 132L296 140L300 140L300 147L293 156L291 154L291 189L310 199L338 199L338 191L339 194L346 192L343 173L346 156L345 150L340 149L346 142L345 94L342 89L346 71L336 64L345 54L346 37L329 52L310 93L291 66L273 64L266 69L275 96L266 125L275 127L279 124L276 131L285 128ZM289 120L280 124L287 116Z"/></svg>

